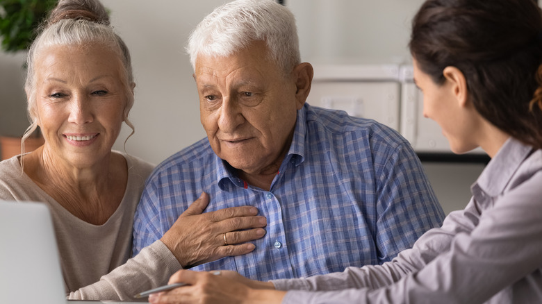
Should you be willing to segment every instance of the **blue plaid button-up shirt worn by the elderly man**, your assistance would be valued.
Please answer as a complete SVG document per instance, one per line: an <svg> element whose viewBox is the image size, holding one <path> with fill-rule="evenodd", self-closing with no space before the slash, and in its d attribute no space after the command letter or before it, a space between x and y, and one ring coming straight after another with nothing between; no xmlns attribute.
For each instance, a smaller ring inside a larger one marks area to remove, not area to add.
<svg viewBox="0 0 542 304"><path fill-rule="evenodd" d="M133 254L172 226L199 194L206 211L253 205L267 234L252 253L193 270L229 269L272 280L381 264L440 226L438 204L420 160L395 130L345 112L304 105L290 150L270 191L245 185L205 138L162 162L134 221Z"/></svg>

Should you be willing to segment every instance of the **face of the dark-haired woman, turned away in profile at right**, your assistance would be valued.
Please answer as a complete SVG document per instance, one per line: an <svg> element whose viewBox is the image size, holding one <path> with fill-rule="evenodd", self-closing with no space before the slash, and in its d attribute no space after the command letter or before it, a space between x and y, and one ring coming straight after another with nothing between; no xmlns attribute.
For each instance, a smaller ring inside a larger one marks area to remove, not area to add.
<svg viewBox="0 0 542 304"><path fill-rule="evenodd" d="M466 153L477 148L477 119L473 109L462 106L457 83L446 78L441 85L434 83L413 59L414 82L423 93L423 116L441 126L442 133L454 153Z"/></svg>

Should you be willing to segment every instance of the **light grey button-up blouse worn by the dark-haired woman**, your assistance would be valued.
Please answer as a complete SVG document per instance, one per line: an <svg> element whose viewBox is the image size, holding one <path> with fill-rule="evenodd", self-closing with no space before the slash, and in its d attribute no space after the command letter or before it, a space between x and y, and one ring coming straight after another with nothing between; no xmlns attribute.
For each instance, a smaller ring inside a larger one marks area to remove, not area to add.
<svg viewBox="0 0 542 304"><path fill-rule="evenodd" d="M273 280L283 303L542 303L542 150L507 140L471 191L391 262Z"/></svg>

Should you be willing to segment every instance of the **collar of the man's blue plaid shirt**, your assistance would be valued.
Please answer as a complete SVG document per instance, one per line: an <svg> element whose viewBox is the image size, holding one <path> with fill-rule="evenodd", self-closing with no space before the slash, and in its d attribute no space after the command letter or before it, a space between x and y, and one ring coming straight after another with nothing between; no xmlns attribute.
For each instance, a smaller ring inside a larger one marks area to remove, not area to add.
<svg viewBox="0 0 542 304"><path fill-rule="evenodd" d="M305 149L305 135L306 135L306 108L309 105L304 105L301 110L297 110L297 119L295 121L294 134L292 138L292 144L290 144L290 149L284 162L292 162L296 167L304 162L304 149ZM218 182L218 187L222 190L229 189L229 183L227 180L230 180L233 185L238 187L245 187L245 182L238 178L235 174L235 170L231 167L226 161L222 160L215 154L215 167L216 178Z"/></svg>

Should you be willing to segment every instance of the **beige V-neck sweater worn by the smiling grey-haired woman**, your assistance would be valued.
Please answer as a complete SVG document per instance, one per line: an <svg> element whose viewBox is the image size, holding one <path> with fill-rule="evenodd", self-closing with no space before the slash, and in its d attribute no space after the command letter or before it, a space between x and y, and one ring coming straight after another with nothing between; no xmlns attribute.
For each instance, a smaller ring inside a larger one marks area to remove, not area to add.
<svg viewBox="0 0 542 304"><path fill-rule="evenodd" d="M33 183L22 171L19 156L0 162L0 199L49 205L69 299L128 300L134 294L165 284L181 268L159 240L129 260L133 214L153 166L123 155L129 167L124 198L100 226L74 217ZM35 254L40 254L40 248L35 248Z"/></svg>

